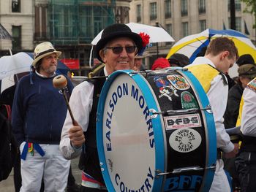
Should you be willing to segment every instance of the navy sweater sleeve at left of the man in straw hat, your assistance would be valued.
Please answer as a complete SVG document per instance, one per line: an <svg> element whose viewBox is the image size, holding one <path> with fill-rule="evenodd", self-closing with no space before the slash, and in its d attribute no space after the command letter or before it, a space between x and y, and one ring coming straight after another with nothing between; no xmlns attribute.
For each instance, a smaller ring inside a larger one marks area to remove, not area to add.
<svg viewBox="0 0 256 192"><path fill-rule="evenodd" d="M22 81L18 82L12 103L12 133L18 145L25 141L23 125L26 109L24 107L22 87Z"/></svg>

